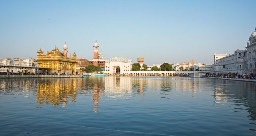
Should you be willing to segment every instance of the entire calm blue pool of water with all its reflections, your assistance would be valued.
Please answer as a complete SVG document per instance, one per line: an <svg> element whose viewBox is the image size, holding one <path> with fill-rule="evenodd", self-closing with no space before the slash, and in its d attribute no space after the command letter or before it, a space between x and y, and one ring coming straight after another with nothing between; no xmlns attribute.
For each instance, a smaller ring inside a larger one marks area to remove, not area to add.
<svg viewBox="0 0 256 136"><path fill-rule="evenodd" d="M0 135L256 135L256 83L207 78L0 79Z"/></svg>

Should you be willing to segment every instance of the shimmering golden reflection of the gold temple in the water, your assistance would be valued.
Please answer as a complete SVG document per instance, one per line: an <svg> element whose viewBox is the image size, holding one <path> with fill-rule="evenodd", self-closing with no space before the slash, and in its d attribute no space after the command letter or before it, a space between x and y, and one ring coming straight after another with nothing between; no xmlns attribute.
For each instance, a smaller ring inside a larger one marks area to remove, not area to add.
<svg viewBox="0 0 256 136"><path fill-rule="evenodd" d="M36 100L38 104L66 106L76 100L76 80L74 78L41 78L37 82Z"/></svg>

